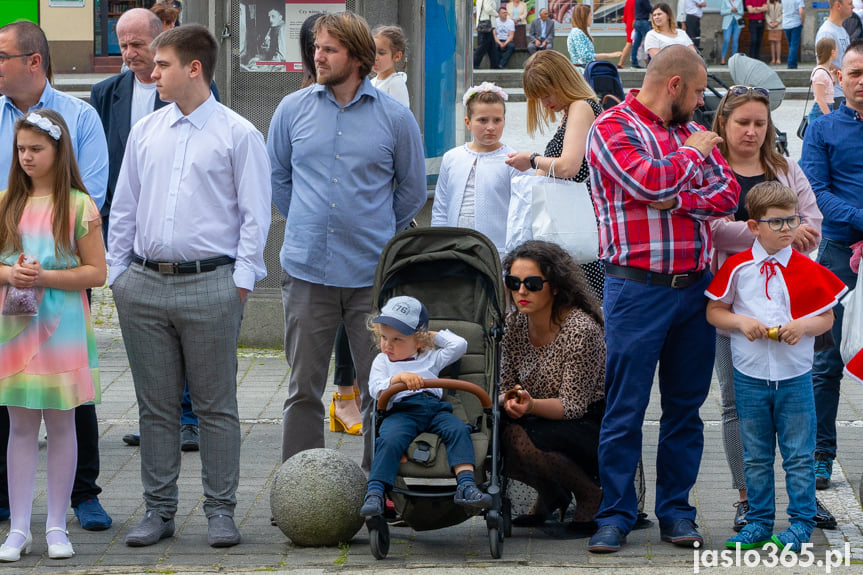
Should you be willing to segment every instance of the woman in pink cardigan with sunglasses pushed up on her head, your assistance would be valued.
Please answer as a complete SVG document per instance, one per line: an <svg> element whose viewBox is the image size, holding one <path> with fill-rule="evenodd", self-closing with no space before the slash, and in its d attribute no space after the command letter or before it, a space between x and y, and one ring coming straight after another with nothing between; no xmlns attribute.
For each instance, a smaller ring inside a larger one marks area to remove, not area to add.
<svg viewBox="0 0 863 575"><path fill-rule="evenodd" d="M725 260L752 247L755 236L746 221L746 194L756 184L776 180L797 194L798 213L802 223L794 229L792 246L808 254L818 246L821 235L821 212L815 203L815 194L803 170L791 159L776 151L773 120L770 117L770 93L764 88L732 86L719 102L713 120L713 131L722 138L719 150L740 184L737 212L727 218L711 222L714 254L711 268L715 272ZM746 525L749 503L746 480L743 475L743 447L740 440L740 423L734 404L733 365L729 334L716 334L716 377L719 380L722 406L722 440L725 457L731 469L732 486L738 490L734 530ZM819 503L819 515L827 513Z"/></svg>

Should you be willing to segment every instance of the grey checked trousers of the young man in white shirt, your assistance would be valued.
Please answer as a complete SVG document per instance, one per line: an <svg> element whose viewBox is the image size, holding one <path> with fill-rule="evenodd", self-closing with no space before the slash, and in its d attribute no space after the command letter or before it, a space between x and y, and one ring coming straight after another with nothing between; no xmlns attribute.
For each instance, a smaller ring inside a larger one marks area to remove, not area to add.
<svg viewBox="0 0 863 575"><path fill-rule="evenodd" d="M162 275L131 264L114 301L141 420L141 483L147 511L177 511L184 377L200 429L204 513L233 516L240 478L237 340L243 304L231 266Z"/></svg>

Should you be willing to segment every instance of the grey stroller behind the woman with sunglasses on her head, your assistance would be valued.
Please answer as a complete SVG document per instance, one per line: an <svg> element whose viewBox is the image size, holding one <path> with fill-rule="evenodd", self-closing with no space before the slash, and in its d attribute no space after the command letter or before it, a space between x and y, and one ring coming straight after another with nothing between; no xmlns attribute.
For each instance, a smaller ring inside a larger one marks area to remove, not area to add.
<svg viewBox="0 0 863 575"><path fill-rule="evenodd" d="M744 54L734 54L728 60L728 71L734 85L757 86L770 92L770 111L773 112L782 104L785 97L785 84L774 69L762 62ZM704 92L704 106L695 110L692 119L707 129L713 125L713 117L729 86L715 74L707 74L707 90ZM788 135L776 129L776 151L788 156Z"/></svg>

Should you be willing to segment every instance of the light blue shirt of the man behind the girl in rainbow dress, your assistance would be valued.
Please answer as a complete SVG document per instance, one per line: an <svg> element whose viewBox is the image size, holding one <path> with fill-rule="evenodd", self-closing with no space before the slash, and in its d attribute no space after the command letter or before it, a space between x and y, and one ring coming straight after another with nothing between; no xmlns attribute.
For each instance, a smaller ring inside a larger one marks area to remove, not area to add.
<svg viewBox="0 0 863 575"><path fill-rule="evenodd" d="M108 185L108 143L102 121L93 107L74 96L58 92L48 81L39 102L27 113L39 108L50 108L63 116L72 137L72 149L78 160L81 178L87 192L99 209L105 203ZM24 113L6 96L0 96L0 189L6 187L12 168L12 144L15 141L15 121Z"/></svg>

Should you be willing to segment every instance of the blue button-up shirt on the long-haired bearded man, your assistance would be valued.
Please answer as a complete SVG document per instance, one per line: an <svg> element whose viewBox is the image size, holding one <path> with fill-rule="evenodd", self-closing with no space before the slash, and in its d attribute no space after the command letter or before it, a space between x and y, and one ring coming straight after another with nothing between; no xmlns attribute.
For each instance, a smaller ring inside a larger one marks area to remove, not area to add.
<svg viewBox="0 0 863 575"><path fill-rule="evenodd" d="M368 79L346 106L329 88L309 86L279 104L267 149L273 204L287 220L285 271L328 286L372 285L384 245L426 201L410 110Z"/></svg>

